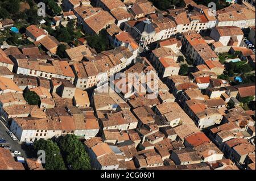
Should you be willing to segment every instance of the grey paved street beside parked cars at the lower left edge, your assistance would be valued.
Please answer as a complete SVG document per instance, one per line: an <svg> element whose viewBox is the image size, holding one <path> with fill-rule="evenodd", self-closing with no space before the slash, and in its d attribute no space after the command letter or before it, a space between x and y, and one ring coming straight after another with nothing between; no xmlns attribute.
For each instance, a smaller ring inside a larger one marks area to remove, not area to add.
<svg viewBox="0 0 256 181"><path fill-rule="evenodd" d="M18 141L14 141L9 136L9 134L7 134L7 131L9 131L9 129L0 120L0 137L7 141L5 144L2 144L2 145L10 146L11 147L11 151L14 151L14 150L20 151L20 153L21 153L20 156L26 158L26 154L25 154L25 151L22 150L22 146L19 144Z"/></svg>

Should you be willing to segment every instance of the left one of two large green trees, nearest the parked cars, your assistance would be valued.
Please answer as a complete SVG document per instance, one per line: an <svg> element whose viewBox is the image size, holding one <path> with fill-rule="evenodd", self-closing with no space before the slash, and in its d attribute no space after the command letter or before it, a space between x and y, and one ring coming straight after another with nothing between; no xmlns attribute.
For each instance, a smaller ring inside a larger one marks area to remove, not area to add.
<svg viewBox="0 0 256 181"><path fill-rule="evenodd" d="M52 140L37 140L34 143L34 150L44 150L46 152L46 170L65 170L65 163L60 154L60 148Z"/></svg>

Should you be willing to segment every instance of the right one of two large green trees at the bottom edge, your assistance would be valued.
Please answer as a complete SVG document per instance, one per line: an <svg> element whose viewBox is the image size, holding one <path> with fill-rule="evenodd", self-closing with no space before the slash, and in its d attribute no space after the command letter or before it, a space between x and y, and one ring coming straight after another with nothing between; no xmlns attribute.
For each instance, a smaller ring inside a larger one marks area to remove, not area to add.
<svg viewBox="0 0 256 181"><path fill-rule="evenodd" d="M82 145L74 134L59 137L57 143L68 167L74 170L90 169L90 159L85 151L84 145Z"/></svg>

